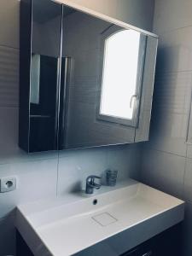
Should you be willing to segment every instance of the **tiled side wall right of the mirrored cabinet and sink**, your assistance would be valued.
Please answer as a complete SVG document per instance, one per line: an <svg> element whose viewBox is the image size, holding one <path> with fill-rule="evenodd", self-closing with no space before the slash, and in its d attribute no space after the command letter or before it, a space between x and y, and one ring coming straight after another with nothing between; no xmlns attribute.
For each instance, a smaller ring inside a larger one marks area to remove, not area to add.
<svg viewBox="0 0 192 256"><path fill-rule="evenodd" d="M160 35L150 140L142 180L187 201L183 254L192 255L192 146L185 143L192 86L192 1L156 0Z"/></svg>

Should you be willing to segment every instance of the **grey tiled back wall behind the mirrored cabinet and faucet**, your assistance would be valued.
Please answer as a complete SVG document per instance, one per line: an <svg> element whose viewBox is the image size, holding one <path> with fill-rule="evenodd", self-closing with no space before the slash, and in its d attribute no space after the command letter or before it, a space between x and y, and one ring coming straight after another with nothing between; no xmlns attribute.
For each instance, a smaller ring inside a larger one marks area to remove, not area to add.
<svg viewBox="0 0 192 256"><path fill-rule="evenodd" d="M102 13L150 30L154 0L84 1ZM0 194L0 256L15 253L15 205L84 186L89 174L106 168L119 170L119 178L137 177L135 146L93 148L67 152L25 154L18 146L19 1L0 1L0 177L16 176L15 191Z"/></svg>

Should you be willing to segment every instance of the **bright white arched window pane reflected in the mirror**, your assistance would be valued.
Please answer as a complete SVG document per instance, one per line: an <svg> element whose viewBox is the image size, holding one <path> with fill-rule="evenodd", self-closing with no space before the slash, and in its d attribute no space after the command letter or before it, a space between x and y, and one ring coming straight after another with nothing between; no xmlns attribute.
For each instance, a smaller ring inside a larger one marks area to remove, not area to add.
<svg viewBox="0 0 192 256"><path fill-rule="evenodd" d="M136 124L143 65L142 38L140 32L121 30L104 40L99 114L102 117L112 117L109 121L125 125Z"/></svg>

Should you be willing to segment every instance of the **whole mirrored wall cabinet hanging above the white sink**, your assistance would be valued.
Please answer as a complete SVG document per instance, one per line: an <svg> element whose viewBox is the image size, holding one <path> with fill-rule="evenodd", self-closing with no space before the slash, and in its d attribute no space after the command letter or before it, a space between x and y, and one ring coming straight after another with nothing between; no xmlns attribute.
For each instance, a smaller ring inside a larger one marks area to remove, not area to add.
<svg viewBox="0 0 192 256"><path fill-rule="evenodd" d="M158 39L51 0L20 2L20 148L148 140Z"/></svg>

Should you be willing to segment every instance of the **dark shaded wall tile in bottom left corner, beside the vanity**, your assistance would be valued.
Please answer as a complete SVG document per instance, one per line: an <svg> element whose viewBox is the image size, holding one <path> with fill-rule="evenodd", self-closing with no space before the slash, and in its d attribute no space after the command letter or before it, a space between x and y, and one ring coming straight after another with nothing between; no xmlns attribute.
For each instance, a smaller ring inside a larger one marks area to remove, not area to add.
<svg viewBox="0 0 192 256"><path fill-rule="evenodd" d="M15 253L15 216L0 219L0 255L16 255Z"/></svg>

